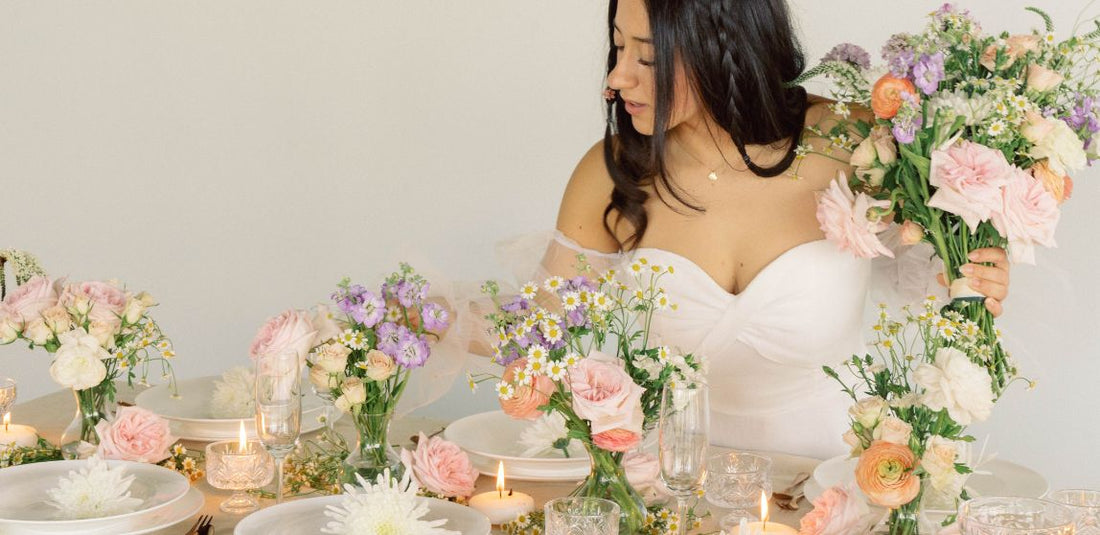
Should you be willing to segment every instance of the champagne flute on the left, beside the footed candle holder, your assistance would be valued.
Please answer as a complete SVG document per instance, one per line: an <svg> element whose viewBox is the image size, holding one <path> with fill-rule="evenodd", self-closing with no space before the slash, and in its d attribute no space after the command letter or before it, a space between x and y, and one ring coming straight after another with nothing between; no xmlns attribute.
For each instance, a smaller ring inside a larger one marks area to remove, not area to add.
<svg viewBox="0 0 1100 535"><path fill-rule="evenodd" d="M256 435L275 458L275 503L283 502L283 462L301 433L301 361L296 353L256 359Z"/></svg>

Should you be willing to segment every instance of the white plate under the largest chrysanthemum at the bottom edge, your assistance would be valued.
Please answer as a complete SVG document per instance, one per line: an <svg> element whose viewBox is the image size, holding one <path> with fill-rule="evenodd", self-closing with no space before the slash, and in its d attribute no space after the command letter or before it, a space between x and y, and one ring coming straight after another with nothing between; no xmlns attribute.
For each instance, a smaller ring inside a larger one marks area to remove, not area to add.
<svg viewBox="0 0 1100 535"><path fill-rule="evenodd" d="M306 500L295 500L279 505L257 511L245 516L237 525L237 535L299 535L302 533L320 533L321 528L332 522L324 515L327 505L340 505L344 496L321 496ZM419 498L428 501L428 514L424 520L447 518L441 527L459 532L463 535L488 535L492 525L488 517L465 505Z"/></svg>

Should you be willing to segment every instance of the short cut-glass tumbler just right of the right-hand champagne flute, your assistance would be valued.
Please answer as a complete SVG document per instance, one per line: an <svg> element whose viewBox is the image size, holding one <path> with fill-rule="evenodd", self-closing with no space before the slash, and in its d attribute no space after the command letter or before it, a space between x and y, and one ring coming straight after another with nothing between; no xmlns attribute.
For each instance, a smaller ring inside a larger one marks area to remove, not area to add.
<svg viewBox="0 0 1100 535"><path fill-rule="evenodd" d="M723 529L732 532L741 518L755 518L760 493L770 500L771 490L771 459L768 457L730 451L707 460L706 501L733 510L719 522Z"/></svg>

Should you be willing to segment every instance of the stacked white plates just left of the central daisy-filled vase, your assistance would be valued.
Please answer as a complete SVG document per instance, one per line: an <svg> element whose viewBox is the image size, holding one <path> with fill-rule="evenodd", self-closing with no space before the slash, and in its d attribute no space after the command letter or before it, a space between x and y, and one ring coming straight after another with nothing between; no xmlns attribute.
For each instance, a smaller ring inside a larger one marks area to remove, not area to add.
<svg viewBox="0 0 1100 535"><path fill-rule="evenodd" d="M530 425L503 411L491 411L452 422L443 438L465 450L474 468L486 476L496 476L498 461L504 461L505 478L522 481L580 481L588 474L587 454L522 457L519 437Z"/></svg>

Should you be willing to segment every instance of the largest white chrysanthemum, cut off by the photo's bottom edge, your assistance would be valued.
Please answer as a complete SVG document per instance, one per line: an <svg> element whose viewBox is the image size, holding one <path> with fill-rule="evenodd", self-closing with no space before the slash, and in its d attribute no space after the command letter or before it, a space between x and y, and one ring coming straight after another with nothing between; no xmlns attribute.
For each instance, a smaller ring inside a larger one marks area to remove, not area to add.
<svg viewBox="0 0 1100 535"><path fill-rule="evenodd" d="M425 521L428 501L416 495L413 470L405 470L400 481L386 469L374 484L355 474L361 487L344 485L340 505L326 506L324 515L333 518L321 533L334 535L461 535L444 529L447 518Z"/></svg>

